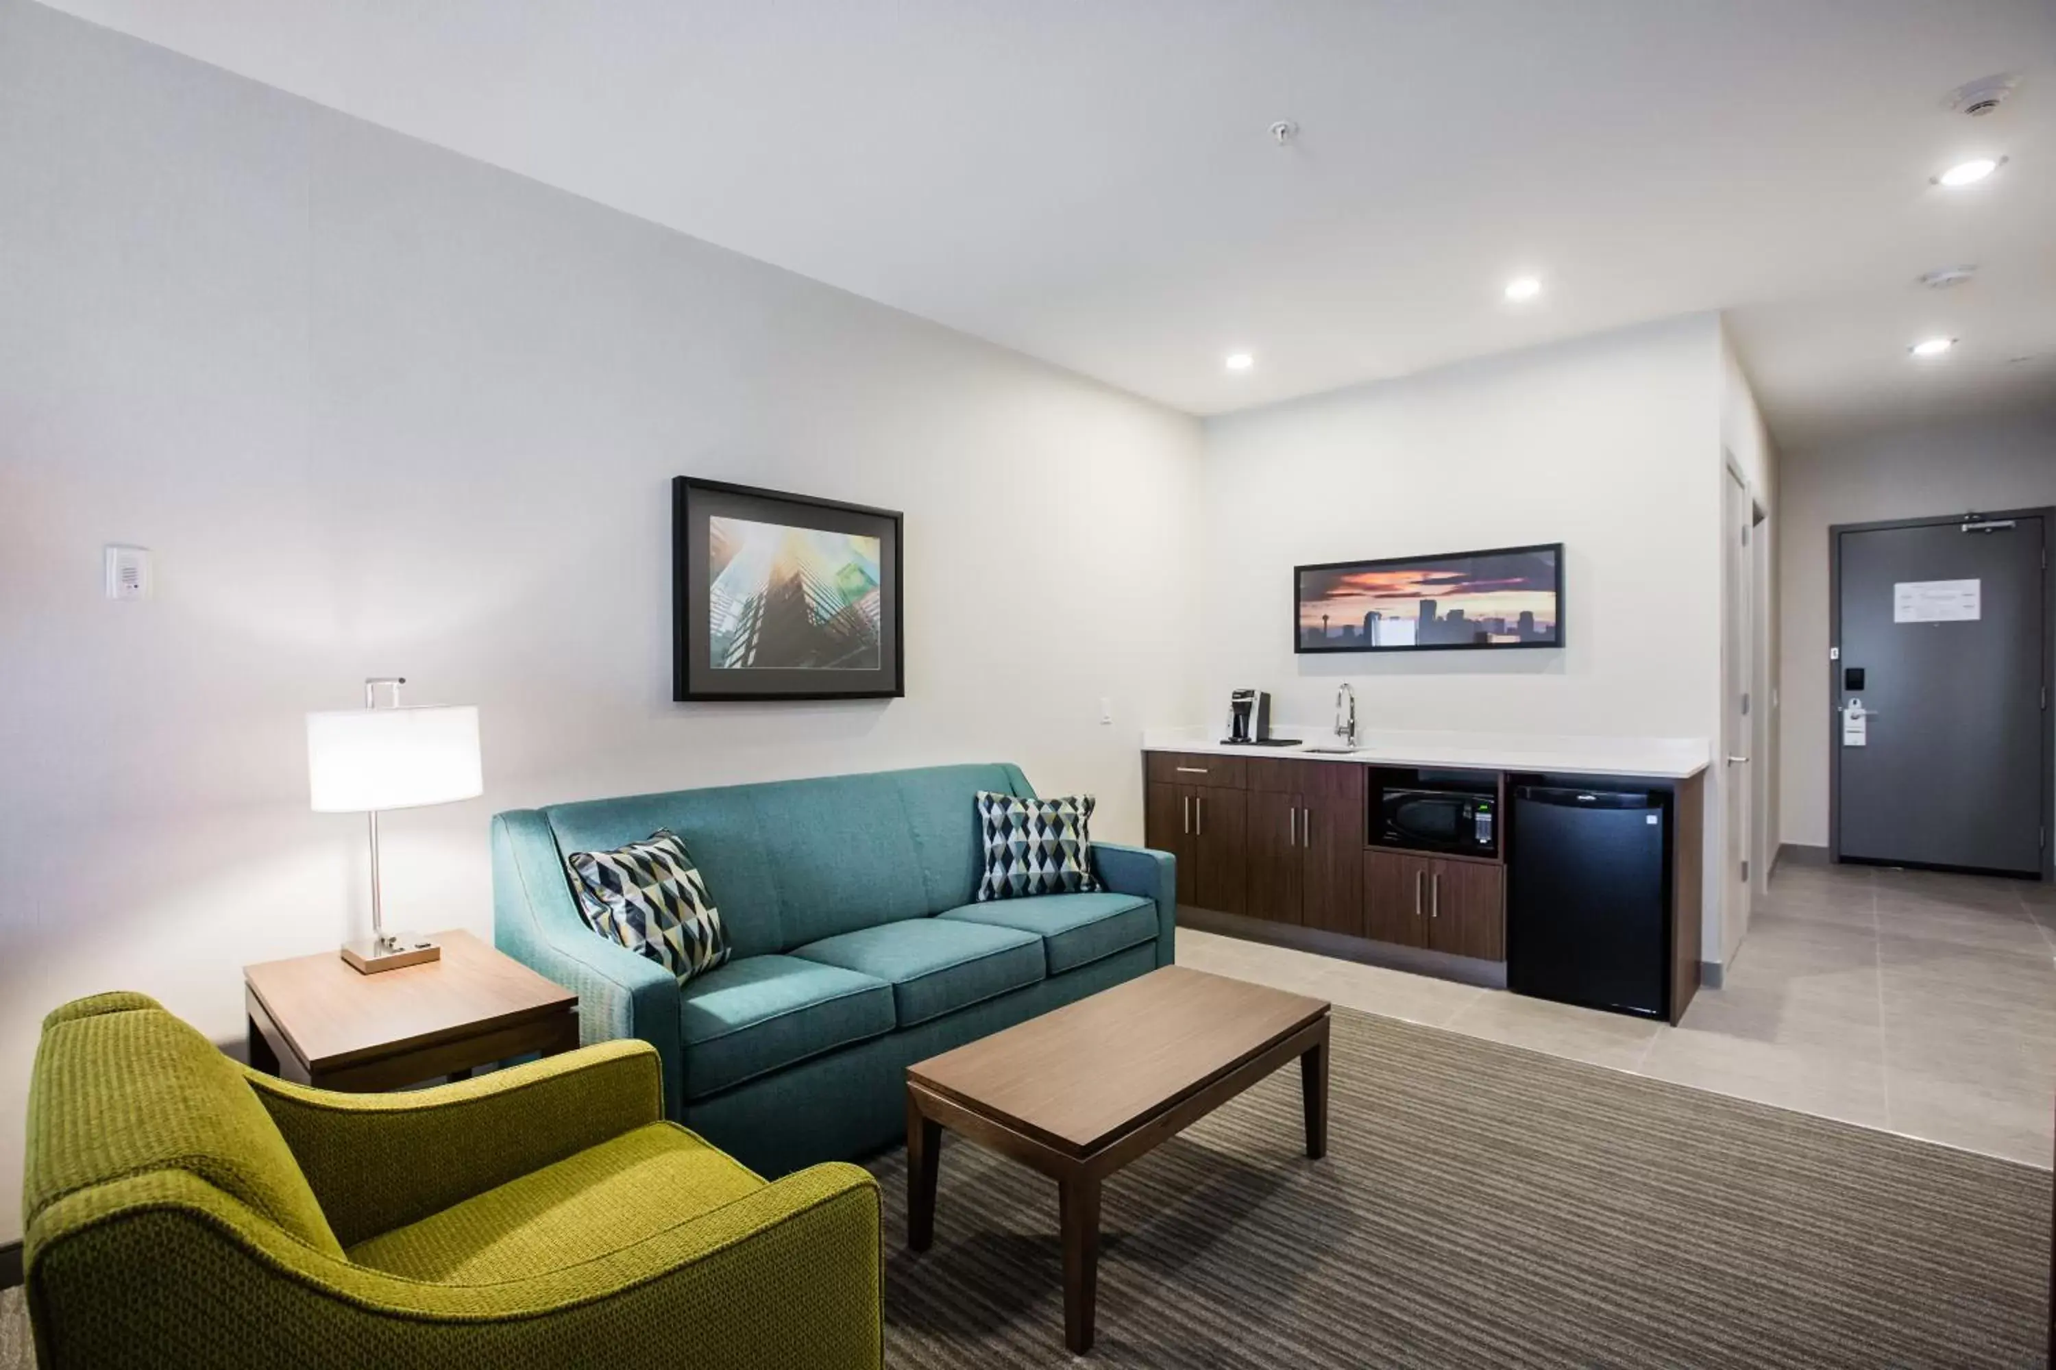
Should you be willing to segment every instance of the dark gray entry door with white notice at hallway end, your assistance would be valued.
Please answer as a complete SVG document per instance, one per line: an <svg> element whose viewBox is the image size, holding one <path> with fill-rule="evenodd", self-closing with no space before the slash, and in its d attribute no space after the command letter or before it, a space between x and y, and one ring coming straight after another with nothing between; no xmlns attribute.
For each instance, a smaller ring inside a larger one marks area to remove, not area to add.
<svg viewBox="0 0 2056 1370"><path fill-rule="evenodd" d="M2042 871L2046 522L1834 530L1836 857Z"/></svg>

